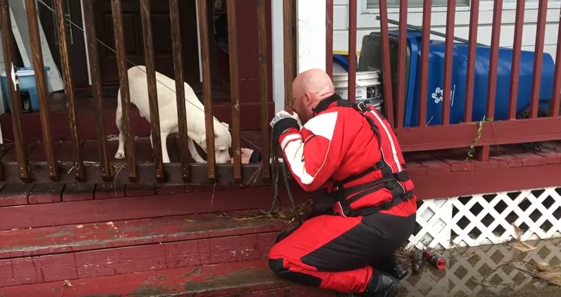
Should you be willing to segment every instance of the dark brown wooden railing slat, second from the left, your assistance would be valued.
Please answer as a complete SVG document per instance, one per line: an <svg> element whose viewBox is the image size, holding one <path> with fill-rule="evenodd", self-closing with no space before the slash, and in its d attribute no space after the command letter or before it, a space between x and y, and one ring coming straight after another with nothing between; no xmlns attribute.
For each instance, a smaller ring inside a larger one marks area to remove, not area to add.
<svg viewBox="0 0 561 297"><path fill-rule="evenodd" d="M26 0L26 12L29 25L29 38L31 44L31 54L33 56L33 68L35 70L35 83L39 96L39 115L41 116L41 132L43 132L43 142L45 143L45 156L49 178L57 181L59 173L57 163L55 163L55 152L50 132L50 110L49 95L45 78L45 65L43 64L43 54L41 52L41 39L39 37L39 21L37 8L34 0Z"/></svg>

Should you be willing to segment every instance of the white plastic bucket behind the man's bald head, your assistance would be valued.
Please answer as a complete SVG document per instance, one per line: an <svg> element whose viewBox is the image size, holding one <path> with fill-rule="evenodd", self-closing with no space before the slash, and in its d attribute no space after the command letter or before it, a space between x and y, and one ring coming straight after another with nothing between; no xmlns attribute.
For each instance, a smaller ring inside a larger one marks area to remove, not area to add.
<svg viewBox="0 0 561 297"><path fill-rule="evenodd" d="M348 100L348 73L333 73L335 92L342 99ZM380 95L380 71L357 72L356 77L356 102L370 101L377 110L380 110L382 98Z"/></svg>

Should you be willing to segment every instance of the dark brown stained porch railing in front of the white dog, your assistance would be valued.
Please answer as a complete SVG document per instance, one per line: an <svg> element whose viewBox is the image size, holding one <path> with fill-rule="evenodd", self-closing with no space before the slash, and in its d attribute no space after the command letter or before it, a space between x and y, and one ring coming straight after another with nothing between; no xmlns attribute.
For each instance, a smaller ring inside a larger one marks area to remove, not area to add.
<svg viewBox="0 0 561 297"><path fill-rule="evenodd" d="M257 28L258 28L258 52L259 57L259 75L261 76L260 89L260 114L262 119L261 135L264 160L269 159L269 127L268 121L268 79L270 73L267 66L267 34L266 34L266 3L265 0L256 0L257 3ZM42 1L41 1L42 2ZM294 61L294 37L293 23L295 20L295 1L284 1L284 18L288 21L286 25L286 59ZM37 3L35 0L26 0L27 19L29 22L29 36L32 48L33 67L35 69L43 69L43 59L41 54L41 42L39 38L39 23L37 17ZM154 162L149 164L139 164L135 158L135 139L131 132L130 123L130 92L128 89L127 70L133 64L126 57L126 48L124 42L123 14L121 12L121 0L111 0L112 23L115 35L115 53L117 56L117 68L119 72L119 87L121 94L121 106L124 122L124 139L126 148L126 168L124 170L115 170L112 161L108 156L108 145L106 141L106 130L104 127L103 97L101 92L101 74L99 69L99 55L97 50L97 34L94 21L94 0L83 1L84 27L86 31L86 43L89 54L90 76L92 79L92 96L95 101L95 119L97 125L97 141L99 147L99 163L84 164L81 152L81 141L76 119L75 94L72 84L72 76L70 75L70 59L67 42L66 17L63 12L62 0L53 0L54 14L56 19L56 28L58 40L60 41L59 51L61 56L61 72L63 74L64 89L66 93L68 119L70 122L70 134L72 141L72 158L71 164L57 162L53 151L53 139L51 135L51 125L49 119L48 93L46 87L46 78L44 72L36 71L37 91L39 92L39 110L41 115L41 131L43 132L43 143L45 147L45 163L42 167L30 164L28 153L26 150L27 143L21 125L21 99L19 96L19 85L17 76L15 76L16 68L14 65L15 50L12 43L13 35L10 25L10 9L8 0L0 0L1 10L1 36L3 45L3 57L8 72L8 94L10 106L12 107L11 116L14 132L14 150L17 156L17 178L12 176L11 172L3 172L3 166L0 164L0 181L121 181L121 182L142 182L142 183L207 183L217 181L237 181L239 183L249 180L256 181L259 176L261 181L269 178L268 166L261 165L244 165L241 162L241 132L240 132L240 104L239 104L239 83L238 83L238 57L237 57L237 20L235 1L226 1L228 13L228 42L230 52L230 96L232 107L232 151L233 164L217 164L215 160L215 143L213 130L213 94L211 92L210 79L210 45L208 40L208 22L207 1L197 0L199 15L199 34L201 38L201 61L202 61L202 83L204 97L204 113L206 127L206 147L208 159L206 164L190 164L190 156L187 145L187 121L186 102L184 97L184 73L182 63L181 48L181 32L180 32L180 16L179 16L179 0L169 0L170 5L170 25L171 40L173 47L173 63L175 70L175 92L177 94L177 114L179 118L179 156L181 163L166 163L162 161L161 141L159 133L159 110L158 110L158 94L157 82L155 76L155 59L154 46L152 44L152 23L150 20L150 0L141 0L141 25L144 36L144 53L147 74L148 96L150 103L150 127L152 132ZM286 77L288 85L295 76L295 67L293 63L288 63L291 67L287 67ZM11 75L10 75L11 74ZM286 106L291 100L290 92L286 94ZM4 166L6 167L6 166ZM9 167L8 167L9 168ZM46 168L46 172L45 171ZM8 169L10 170L10 169ZM126 172L126 173L124 173ZM48 178L48 179L47 179Z"/></svg>

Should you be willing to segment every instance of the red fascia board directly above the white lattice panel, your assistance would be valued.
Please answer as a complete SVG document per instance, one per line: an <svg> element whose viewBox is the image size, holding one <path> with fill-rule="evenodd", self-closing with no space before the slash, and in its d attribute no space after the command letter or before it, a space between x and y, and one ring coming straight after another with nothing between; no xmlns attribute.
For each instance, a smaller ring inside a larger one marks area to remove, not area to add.
<svg viewBox="0 0 561 297"><path fill-rule="evenodd" d="M420 199L505 192L560 185L561 164L412 176ZM489 183L493 181L493 183ZM437 183L437 184L435 184ZM443 187L442 185L446 185Z"/></svg>

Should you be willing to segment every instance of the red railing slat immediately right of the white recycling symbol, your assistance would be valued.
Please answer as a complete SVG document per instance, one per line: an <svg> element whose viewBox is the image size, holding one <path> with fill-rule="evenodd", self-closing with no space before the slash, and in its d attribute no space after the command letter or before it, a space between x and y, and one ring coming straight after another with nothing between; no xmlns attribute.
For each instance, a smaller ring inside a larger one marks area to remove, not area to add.
<svg viewBox="0 0 561 297"><path fill-rule="evenodd" d="M454 26L456 1L448 0L446 7L446 44L444 45L444 86L442 90L442 125L450 124L452 100L452 55L454 46Z"/></svg>

